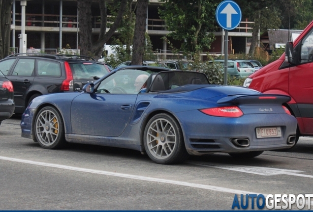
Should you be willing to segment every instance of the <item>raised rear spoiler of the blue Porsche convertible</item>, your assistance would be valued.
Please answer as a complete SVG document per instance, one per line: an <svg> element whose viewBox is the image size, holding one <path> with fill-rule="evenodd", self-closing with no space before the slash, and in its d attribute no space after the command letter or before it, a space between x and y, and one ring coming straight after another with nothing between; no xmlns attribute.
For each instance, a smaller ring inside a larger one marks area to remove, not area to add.
<svg viewBox="0 0 313 212"><path fill-rule="evenodd" d="M279 95L279 94L246 94L246 95L234 95L234 96L227 96L220 99L217 103L218 104L225 104L225 103L233 103L235 105L266 105L266 104L280 104L289 102L291 98L286 95Z"/></svg>

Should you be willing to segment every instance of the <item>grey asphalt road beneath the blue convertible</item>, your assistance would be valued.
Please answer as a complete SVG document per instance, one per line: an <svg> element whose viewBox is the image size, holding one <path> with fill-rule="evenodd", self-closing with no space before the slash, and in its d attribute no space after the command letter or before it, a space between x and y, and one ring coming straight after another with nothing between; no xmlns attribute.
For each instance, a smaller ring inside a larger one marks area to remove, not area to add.
<svg viewBox="0 0 313 212"><path fill-rule="evenodd" d="M312 161L311 137L288 152L214 154L178 165L102 146L45 150L21 137L20 116L13 116L0 126L0 210L231 210L240 194L313 194Z"/></svg>

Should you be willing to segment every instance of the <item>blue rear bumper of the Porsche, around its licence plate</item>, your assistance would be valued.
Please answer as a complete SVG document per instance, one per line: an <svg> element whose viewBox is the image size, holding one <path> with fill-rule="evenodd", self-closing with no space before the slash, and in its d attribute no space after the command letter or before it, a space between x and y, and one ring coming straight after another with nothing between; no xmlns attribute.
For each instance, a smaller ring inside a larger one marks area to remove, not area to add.
<svg viewBox="0 0 313 212"><path fill-rule="evenodd" d="M206 117L197 115L197 111L177 115L190 155L287 149L295 141L297 120L284 113L245 114L240 118ZM281 137L256 137L256 128L273 126L281 127Z"/></svg>

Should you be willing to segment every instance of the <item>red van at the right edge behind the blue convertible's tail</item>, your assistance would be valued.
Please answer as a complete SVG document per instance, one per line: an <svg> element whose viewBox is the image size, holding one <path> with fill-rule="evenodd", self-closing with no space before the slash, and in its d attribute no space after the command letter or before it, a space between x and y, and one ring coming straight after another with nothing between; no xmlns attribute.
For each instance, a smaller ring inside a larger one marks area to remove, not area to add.
<svg viewBox="0 0 313 212"><path fill-rule="evenodd" d="M266 94L291 97L287 108L298 120L299 136L313 136L313 22L293 41L282 56L251 74L245 87Z"/></svg>

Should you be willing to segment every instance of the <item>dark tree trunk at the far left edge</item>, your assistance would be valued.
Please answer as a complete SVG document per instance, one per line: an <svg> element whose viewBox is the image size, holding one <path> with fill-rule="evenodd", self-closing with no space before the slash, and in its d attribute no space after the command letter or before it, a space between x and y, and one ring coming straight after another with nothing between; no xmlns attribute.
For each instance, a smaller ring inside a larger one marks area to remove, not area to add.
<svg viewBox="0 0 313 212"><path fill-rule="evenodd" d="M0 1L0 59L8 56L10 53L12 1Z"/></svg>

